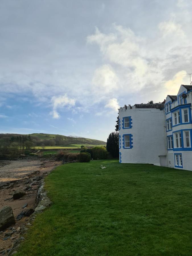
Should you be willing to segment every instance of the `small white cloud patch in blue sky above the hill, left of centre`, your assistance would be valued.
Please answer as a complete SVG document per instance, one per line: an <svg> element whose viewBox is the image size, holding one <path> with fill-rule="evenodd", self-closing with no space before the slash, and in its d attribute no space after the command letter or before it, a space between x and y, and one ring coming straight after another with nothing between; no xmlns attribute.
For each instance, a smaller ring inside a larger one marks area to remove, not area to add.
<svg viewBox="0 0 192 256"><path fill-rule="evenodd" d="M58 108L71 108L72 106L75 106L75 99L74 98L68 98L67 94L59 97L53 96L51 98L51 102L53 105L53 111L50 112L50 115L53 116L53 118L58 119L60 117L59 113L57 112Z"/></svg>

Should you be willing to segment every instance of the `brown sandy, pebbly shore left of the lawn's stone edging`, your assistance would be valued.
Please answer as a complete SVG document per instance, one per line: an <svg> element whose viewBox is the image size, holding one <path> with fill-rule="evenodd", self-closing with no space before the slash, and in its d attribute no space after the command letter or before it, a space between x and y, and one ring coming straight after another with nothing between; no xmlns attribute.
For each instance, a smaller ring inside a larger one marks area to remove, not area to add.
<svg viewBox="0 0 192 256"><path fill-rule="evenodd" d="M32 185L30 191L26 191L26 195L18 200L13 200L12 195L15 191L25 190L27 184L26 182L30 178L35 178L36 176L45 177L51 170L60 165L61 162L49 161L42 162L40 160L16 160L0 161L0 209L4 206L11 206L13 209L13 215L18 216L22 210L27 210L29 208L35 207L36 195L38 190L38 183ZM6 200L8 199L8 200ZM28 204L26 208L22 208L25 204ZM21 220L16 220L16 224L12 227L17 229L22 228L28 223L29 217L23 217ZM9 228L4 230L0 234L0 252L11 248L13 242L20 236L19 232L15 232L8 238L5 239L5 234L10 232Z"/></svg>

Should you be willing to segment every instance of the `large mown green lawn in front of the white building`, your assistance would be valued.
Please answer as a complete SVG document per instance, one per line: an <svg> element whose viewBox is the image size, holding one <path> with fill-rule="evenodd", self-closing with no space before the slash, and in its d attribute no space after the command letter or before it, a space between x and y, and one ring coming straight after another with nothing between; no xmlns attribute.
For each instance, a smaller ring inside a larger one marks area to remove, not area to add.
<svg viewBox="0 0 192 256"><path fill-rule="evenodd" d="M16 255L191 255L191 185L192 172L149 164L59 166Z"/></svg>

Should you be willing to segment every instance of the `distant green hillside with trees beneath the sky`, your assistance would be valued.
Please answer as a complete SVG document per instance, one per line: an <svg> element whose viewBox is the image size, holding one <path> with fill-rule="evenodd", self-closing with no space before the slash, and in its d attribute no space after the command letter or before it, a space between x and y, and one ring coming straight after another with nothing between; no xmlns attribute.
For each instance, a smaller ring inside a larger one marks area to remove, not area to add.
<svg viewBox="0 0 192 256"><path fill-rule="evenodd" d="M80 146L80 145L106 145L105 141L87 139L77 136L64 136L59 134L32 133L27 135L22 134L0 134L0 139L5 138L22 143L22 141L32 141L34 146Z"/></svg>

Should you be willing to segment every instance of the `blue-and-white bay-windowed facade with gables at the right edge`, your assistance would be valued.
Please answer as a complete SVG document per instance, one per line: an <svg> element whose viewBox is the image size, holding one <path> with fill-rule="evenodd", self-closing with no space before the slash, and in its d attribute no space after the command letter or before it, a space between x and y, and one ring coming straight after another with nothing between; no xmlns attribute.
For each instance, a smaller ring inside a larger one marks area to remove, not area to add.
<svg viewBox="0 0 192 256"><path fill-rule="evenodd" d="M192 86L181 85L165 101L168 167L192 171Z"/></svg>

